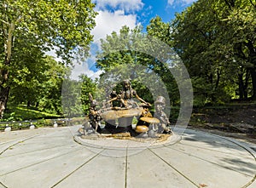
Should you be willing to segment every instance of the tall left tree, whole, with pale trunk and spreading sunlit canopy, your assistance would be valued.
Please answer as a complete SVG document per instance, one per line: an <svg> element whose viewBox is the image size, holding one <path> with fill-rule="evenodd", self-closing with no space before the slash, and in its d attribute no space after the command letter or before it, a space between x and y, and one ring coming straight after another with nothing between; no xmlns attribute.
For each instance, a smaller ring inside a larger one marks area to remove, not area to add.
<svg viewBox="0 0 256 188"><path fill-rule="evenodd" d="M14 62L22 60L22 54L35 52L34 48L41 54L55 49L67 63L75 54L87 54L92 41L90 30L95 26L94 6L89 0L3 0L0 98L5 105L11 87L9 77L15 77L11 75Z"/></svg>

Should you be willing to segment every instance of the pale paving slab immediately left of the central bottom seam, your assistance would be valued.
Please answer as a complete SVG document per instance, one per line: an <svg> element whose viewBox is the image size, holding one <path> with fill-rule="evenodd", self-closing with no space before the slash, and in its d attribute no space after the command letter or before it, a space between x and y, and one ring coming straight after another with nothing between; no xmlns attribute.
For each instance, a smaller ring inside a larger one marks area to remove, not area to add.
<svg viewBox="0 0 256 188"><path fill-rule="evenodd" d="M125 157L98 155L56 187L125 187Z"/></svg>

